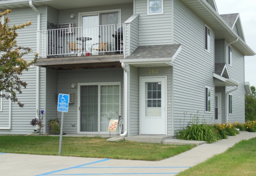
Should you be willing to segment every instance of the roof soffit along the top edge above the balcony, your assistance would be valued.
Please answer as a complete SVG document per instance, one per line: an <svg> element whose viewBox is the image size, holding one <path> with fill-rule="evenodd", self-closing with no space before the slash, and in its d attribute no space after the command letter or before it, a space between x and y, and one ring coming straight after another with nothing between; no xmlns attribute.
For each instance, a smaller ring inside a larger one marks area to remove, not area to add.
<svg viewBox="0 0 256 176"><path fill-rule="evenodd" d="M20 7L30 7L29 0L9 0L0 1L0 9L14 9ZM5 4L2 4L5 3ZM56 9L73 9L81 7L104 6L133 3L133 0L35 0L33 5L49 5Z"/></svg>

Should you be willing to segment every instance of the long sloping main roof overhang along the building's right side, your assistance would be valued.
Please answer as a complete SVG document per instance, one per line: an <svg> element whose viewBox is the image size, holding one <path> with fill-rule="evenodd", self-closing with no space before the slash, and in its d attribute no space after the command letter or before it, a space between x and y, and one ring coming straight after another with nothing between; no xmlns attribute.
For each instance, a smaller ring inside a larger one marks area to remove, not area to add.
<svg viewBox="0 0 256 176"><path fill-rule="evenodd" d="M254 56L256 53L240 38L235 31L221 18L221 16L206 2L206 0L182 0L194 13L201 17L211 28L214 29L215 39L226 39L233 42L239 52L245 56Z"/></svg>

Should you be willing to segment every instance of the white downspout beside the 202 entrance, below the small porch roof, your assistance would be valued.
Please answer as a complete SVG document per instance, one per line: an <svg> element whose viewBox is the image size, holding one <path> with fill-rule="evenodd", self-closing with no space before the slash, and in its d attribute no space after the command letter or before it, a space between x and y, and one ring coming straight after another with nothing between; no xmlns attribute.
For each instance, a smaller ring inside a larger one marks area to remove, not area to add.
<svg viewBox="0 0 256 176"><path fill-rule="evenodd" d="M123 118L124 118L124 131L123 134L120 134L120 136L126 136L127 134L127 129L128 129L128 70L126 69L126 64L122 62L122 68L124 70L124 84L123 84L123 89L124 89L124 100L123 100L123 105L124 105L124 113L123 113Z"/></svg>

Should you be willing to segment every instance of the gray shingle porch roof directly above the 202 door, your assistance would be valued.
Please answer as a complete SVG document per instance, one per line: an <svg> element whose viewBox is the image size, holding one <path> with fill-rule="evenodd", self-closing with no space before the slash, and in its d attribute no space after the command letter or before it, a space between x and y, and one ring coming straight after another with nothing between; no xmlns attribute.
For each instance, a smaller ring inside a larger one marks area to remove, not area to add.
<svg viewBox="0 0 256 176"><path fill-rule="evenodd" d="M160 59L171 58L179 49L178 45L147 45L139 46L126 59Z"/></svg>

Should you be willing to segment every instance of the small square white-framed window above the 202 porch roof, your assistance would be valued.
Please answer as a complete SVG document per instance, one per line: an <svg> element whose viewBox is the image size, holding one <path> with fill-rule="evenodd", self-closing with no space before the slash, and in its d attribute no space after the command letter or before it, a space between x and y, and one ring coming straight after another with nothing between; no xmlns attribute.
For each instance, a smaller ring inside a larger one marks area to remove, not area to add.
<svg viewBox="0 0 256 176"><path fill-rule="evenodd" d="M147 0L147 15L164 14L164 0Z"/></svg>

